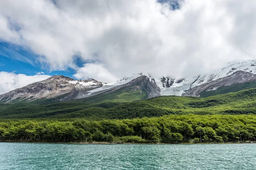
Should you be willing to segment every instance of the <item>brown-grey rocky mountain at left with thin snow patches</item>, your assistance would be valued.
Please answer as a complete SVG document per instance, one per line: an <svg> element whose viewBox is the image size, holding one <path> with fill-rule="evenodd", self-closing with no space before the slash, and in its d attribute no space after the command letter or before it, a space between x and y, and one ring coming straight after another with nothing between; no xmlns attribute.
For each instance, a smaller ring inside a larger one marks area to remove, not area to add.
<svg viewBox="0 0 256 170"><path fill-rule="evenodd" d="M70 77L52 76L41 82L35 82L23 88L0 95L0 102L29 102L35 99L56 98L58 100L75 99L80 92L102 87L102 82L94 79L76 81Z"/></svg>

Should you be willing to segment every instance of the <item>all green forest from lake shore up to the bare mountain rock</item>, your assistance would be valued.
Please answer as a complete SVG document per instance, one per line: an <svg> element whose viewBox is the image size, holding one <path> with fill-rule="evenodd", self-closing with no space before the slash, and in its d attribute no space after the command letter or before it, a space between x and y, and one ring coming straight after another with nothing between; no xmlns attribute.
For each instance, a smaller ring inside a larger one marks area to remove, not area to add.
<svg viewBox="0 0 256 170"><path fill-rule="evenodd" d="M256 88L205 98L140 99L119 91L65 102L0 104L1 142L221 143L255 138Z"/></svg>

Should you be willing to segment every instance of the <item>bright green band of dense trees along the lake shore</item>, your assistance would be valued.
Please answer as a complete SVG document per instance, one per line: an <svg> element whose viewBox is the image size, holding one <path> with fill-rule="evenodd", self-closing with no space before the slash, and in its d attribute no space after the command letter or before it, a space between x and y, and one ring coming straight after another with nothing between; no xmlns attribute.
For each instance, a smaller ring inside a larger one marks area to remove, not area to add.
<svg viewBox="0 0 256 170"><path fill-rule="evenodd" d="M245 142L256 139L254 115L169 115L88 121L2 120L0 141Z"/></svg>

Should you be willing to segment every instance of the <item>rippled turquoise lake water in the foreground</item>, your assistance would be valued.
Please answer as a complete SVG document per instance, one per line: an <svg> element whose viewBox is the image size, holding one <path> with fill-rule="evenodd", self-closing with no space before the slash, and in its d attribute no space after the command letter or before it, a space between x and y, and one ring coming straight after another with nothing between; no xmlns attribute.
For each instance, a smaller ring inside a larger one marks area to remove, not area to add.
<svg viewBox="0 0 256 170"><path fill-rule="evenodd" d="M256 170L256 144L0 143L0 170Z"/></svg>

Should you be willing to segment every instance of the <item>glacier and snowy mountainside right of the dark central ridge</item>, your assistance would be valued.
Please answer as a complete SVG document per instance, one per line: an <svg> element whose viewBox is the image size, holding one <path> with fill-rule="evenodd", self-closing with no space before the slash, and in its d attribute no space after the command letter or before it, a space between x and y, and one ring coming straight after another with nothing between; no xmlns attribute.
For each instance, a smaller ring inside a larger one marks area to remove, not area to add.
<svg viewBox="0 0 256 170"><path fill-rule="evenodd" d="M160 95L198 96L200 93L200 89L203 87L208 87L208 85L213 85L214 83L218 82L218 85L216 84L214 88L207 88L204 90L216 90L217 88L222 86L255 81L253 76L255 74L256 60L246 60L229 62L224 68L212 71L208 74L201 74L194 77L185 77L178 79L168 79L167 77L154 77L154 79L158 87L161 89ZM234 77L232 79L231 75L236 75L236 78ZM224 77L226 77L225 81ZM236 79L236 81L234 79Z"/></svg>

